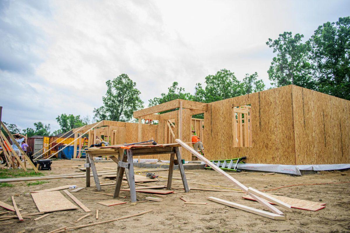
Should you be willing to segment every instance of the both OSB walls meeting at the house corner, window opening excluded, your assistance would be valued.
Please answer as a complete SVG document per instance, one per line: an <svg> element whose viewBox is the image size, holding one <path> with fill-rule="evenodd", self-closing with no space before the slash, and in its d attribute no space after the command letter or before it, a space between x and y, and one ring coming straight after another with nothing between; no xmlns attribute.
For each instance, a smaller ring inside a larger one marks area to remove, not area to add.
<svg viewBox="0 0 350 233"><path fill-rule="evenodd" d="M233 147L232 107L252 105L252 147ZM293 111L292 111L293 109ZM247 156L247 163L350 163L350 101L284 86L208 104L208 159Z"/></svg>

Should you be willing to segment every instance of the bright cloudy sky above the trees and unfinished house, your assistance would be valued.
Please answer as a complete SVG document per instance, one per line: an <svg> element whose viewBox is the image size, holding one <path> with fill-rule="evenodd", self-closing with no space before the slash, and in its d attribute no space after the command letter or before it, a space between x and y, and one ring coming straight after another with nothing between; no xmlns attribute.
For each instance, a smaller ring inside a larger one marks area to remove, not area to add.
<svg viewBox="0 0 350 233"><path fill-rule="evenodd" d="M265 44L284 31L309 38L350 15L350 1L8 1L0 0L2 119L20 129L59 126L66 113L93 116L106 80L126 73L141 99L173 81L197 82L226 68L242 80L267 70Z"/></svg>

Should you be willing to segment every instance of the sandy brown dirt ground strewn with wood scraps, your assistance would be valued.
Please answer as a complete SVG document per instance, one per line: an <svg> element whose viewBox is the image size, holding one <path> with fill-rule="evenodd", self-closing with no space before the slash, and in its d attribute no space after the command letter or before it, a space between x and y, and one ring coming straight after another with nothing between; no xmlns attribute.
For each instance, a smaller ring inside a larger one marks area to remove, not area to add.
<svg viewBox="0 0 350 233"><path fill-rule="evenodd" d="M65 166L83 165L81 161L60 160L54 161L51 171L43 171L47 175L82 173L76 168L66 168ZM115 163L96 163L97 170L107 170L103 167L116 167ZM136 168L137 170L137 168ZM227 188L236 188L214 170L188 170L194 174L187 174L188 182L227 185ZM157 172L157 175L167 176L167 171ZM245 184L247 187L257 189L273 189L290 184L306 183L327 183L327 182L347 182L349 181L350 171L345 172L321 172L320 174L311 174L304 176L289 176L284 174L266 175L252 172L249 174L233 175L235 179ZM178 170L174 171L174 176L180 177ZM205 181L211 180L213 182ZM111 183L113 180L105 180L100 177L103 183ZM28 182L14 182L14 187L1 187L1 201L12 204L10 196L20 194L15 197L19 208L29 213L37 212L36 205L29 195L30 191L54 188L66 184L75 184L78 187L85 187L85 178L76 179L57 179L48 180L48 183L28 186ZM91 177L91 184L93 179ZM166 182L152 182L148 184L166 184ZM181 180L173 180L173 185L181 185ZM190 187L215 189L216 187L189 184ZM32 216L31 219L25 219L22 222L12 220L14 223L9 225L0 225L0 232L16 233L22 230L26 232L49 232L60 227L71 227L83 224L104 221L135 213L153 210L153 212L133 217L129 219L114 221L111 223L100 224L80 228L72 232L350 232L350 184L325 184L325 185L307 185L281 188L272 192L283 193L285 196L305 199L310 201L325 202L326 207L319 211L306 211L291 209L281 209L287 220L272 220L256 214L248 213L242 210L234 209L229 206L208 201L206 197L214 196L228 201L248 205L258 209L266 210L259 203L244 200L243 194L233 192L212 192L190 190L184 194L181 190L175 190L174 194L165 195L162 202L144 202L135 206L116 205L103 206L97 204L99 200L82 200L82 197L109 197L100 194L91 193L97 191L96 187L85 188L79 192L73 192L80 201L89 207L91 216L75 223L75 220L84 216L86 213L81 209L69 211L52 212L49 216L40 220L33 219L38 216ZM102 192L113 193L114 185L102 186ZM62 192L62 191L61 191ZM63 192L62 192L63 193ZM193 202L207 202L207 205L184 205L180 195L186 196ZM64 194L65 195L65 194ZM126 198L118 198L130 202L130 193L121 192L120 195ZM151 194L137 193L138 200L144 200ZM66 196L70 201L71 199ZM112 198L111 198L112 199ZM2 208L1 208L2 209ZM96 220L96 210L99 210L99 219ZM1 210L3 212L3 209ZM5 214L4 214L5 215ZM4 223L6 221L1 221Z"/></svg>

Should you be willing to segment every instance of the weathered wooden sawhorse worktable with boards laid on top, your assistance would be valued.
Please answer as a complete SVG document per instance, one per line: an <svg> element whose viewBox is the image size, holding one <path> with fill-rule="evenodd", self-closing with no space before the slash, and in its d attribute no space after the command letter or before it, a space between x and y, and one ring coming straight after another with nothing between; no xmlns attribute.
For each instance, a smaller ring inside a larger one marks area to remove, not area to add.
<svg viewBox="0 0 350 233"><path fill-rule="evenodd" d="M170 154L167 189L171 189L172 187L174 159L176 155L177 161L179 162L179 170L180 170L184 190L185 192L189 192L179 146L180 146L179 144L158 145L158 146L149 146L149 147L135 146L127 150L121 149L120 147L89 148L86 150L86 164L84 165L86 167L86 187L90 187L90 168L91 168L93 178L96 184L96 188L98 191L101 190L101 185L98 179L93 156L108 155L108 156L111 156L110 158L114 162L118 163L116 189L114 190L113 198L117 198L119 196L121 181L123 180L123 176L125 173L129 187L130 187L131 202L137 202L133 156L150 155L150 154ZM118 158L116 155L118 155Z"/></svg>

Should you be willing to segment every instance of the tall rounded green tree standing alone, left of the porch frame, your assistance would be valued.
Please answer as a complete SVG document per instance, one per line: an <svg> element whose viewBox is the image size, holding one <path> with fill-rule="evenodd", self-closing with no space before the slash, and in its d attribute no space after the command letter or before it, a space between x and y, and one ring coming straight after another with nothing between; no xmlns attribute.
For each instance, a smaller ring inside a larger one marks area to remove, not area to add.
<svg viewBox="0 0 350 233"><path fill-rule="evenodd" d="M106 85L103 106L93 110L95 119L126 122L133 118L134 111L144 107L136 83L127 74L108 80Z"/></svg>

